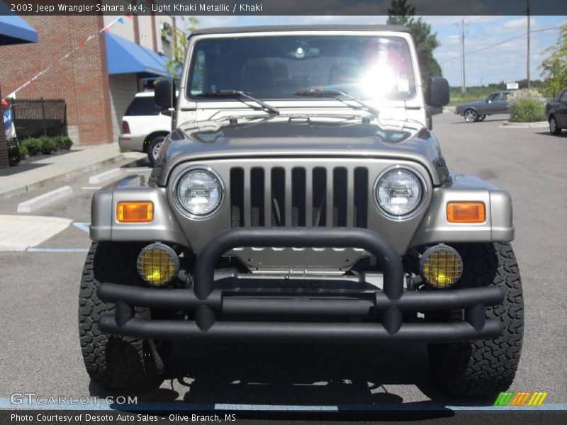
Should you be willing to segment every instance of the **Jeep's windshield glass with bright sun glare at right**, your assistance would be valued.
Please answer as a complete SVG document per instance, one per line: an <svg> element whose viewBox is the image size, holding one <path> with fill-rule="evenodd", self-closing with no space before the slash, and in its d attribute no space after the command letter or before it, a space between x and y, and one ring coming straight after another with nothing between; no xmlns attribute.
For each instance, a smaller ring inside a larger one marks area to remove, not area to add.
<svg viewBox="0 0 567 425"><path fill-rule="evenodd" d="M270 36L196 42L189 97L220 90L263 99L301 99L305 90L339 90L360 99L415 96L408 43L400 37ZM199 98L199 100L203 100Z"/></svg>

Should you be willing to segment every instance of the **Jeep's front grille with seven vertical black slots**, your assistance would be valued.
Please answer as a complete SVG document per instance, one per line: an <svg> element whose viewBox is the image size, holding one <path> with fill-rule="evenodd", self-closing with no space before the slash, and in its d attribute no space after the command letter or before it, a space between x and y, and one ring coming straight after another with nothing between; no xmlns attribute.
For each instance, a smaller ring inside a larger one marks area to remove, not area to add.
<svg viewBox="0 0 567 425"><path fill-rule="evenodd" d="M366 167L234 167L232 227L366 227Z"/></svg>

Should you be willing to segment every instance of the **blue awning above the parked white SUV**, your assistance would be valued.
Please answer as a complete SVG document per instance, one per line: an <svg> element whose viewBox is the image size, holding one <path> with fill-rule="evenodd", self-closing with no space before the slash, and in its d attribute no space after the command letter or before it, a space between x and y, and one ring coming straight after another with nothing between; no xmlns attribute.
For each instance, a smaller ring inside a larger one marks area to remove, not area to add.
<svg viewBox="0 0 567 425"><path fill-rule="evenodd" d="M167 77L165 60L152 52L118 35L105 33L108 74L141 74ZM167 59L166 59L167 60Z"/></svg>

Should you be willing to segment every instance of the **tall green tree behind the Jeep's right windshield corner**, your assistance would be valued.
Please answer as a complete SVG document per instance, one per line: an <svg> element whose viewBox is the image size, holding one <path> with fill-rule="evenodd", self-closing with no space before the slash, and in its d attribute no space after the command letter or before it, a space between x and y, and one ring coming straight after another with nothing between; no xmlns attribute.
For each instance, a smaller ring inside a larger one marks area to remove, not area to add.
<svg viewBox="0 0 567 425"><path fill-rule="evenodd" d="M415 39L417 57L420 60L420 71L423 81L432 75L442 75L439 62L434 58L433 51L441 45L437 40L437 33L431 32L431 26L422 18L415 19L415 6L407 0L392 0L388 8L388 25L401 25L410 29Z"/></svg>

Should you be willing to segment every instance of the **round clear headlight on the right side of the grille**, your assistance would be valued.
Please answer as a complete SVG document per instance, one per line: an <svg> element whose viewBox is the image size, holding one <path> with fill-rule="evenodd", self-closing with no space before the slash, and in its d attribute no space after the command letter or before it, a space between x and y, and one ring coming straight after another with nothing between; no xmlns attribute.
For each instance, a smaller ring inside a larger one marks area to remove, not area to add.
<svg viewBox="0 0 567 425"><path fill-rule="evenodd" d="M376 201L388 215L402 216L420 205L423 187L420 179L408 169L387 171L376 184Z"/></svg>

